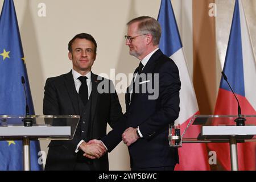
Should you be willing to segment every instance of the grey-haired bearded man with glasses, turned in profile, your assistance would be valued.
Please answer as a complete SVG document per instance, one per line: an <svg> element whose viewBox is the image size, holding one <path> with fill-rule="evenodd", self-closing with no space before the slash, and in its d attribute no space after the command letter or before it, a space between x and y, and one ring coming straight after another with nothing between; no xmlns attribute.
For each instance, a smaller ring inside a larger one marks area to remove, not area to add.
<svg viewBox="0 0 256 182"><path fill-rule="evenodd" d="M101 141L110 152L122 139L131 170L173 170L179 157L177 148L169 147L168 125L179 116L179 71L158 48L161 28L154 18L141 16L127 26L126 45L140 64L126 93L125 122Z"/></svg>

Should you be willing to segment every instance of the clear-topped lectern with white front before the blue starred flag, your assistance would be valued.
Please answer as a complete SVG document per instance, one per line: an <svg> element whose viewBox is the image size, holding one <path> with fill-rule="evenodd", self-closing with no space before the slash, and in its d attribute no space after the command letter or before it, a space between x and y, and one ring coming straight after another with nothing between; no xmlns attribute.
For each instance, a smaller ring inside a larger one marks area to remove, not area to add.
<svg viewBox="0 0 256 182"><path fill-rule="evenodd" d="M79 119L79 115L0 115L0 140L23 140L23 169L29 171L30 140L71 140Z"/></svg>

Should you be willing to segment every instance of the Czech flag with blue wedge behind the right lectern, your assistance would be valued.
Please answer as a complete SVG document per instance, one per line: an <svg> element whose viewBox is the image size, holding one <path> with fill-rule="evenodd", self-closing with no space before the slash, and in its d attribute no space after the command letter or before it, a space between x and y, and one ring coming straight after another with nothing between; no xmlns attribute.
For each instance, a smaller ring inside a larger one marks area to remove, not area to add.
<svg viewBox="0 0 256 182"><path fill-rule="evenodd" d="M240 102L242 114L255 115L256 64L241 0L235 3L223 72ZM214 114L237 115L237 106L236 98L222 77ZM215 143L208 146L210 150L216 151L222 167L230 170L229 144ZM238 169L255 170L256 142L238 143L237 153Z"/></svg>

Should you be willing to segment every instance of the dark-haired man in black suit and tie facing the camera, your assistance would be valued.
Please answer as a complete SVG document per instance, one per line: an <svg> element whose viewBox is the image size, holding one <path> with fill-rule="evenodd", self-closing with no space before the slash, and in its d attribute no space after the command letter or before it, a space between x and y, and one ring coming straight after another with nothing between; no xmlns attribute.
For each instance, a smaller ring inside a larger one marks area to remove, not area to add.
<svg viewBox="0 0 256 182"><path fill-rule="evenodd" d="M102 156L105 147L88 141L104 137L107 122L113 127L123 114L112 81L91 72L96 49L97 43L91 35L76 35L68 44L72 71L46 81L43 113L80 115L72 140L52 140L49 143L46 170L109 169L108 155Z"/></svg>

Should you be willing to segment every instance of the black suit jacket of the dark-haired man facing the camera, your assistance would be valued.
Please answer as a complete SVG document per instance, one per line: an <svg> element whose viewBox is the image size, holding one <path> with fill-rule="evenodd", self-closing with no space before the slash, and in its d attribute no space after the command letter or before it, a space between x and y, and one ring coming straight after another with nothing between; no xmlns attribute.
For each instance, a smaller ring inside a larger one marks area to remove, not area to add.
<svg viewBox="0 0 256 182"><path fill-rule="evenodd" d="M84 139L85 142L88 142L90 139L101 139L106 135L107 122L113 127L114 123L122 117L121 105L112 81L93 73L91 81L90 113L86 113L86 108L76 91L72 72L47 79L44 88L43 113L46 115L80 115L73 140L52 140L49 144L47 169L72 170L77 162L75 150L80 140ZM105 89L106 93L98 92L99 84L103 85L101 88ZM113 93L110 93L110 90ZM88 120L91 121L90 125L88 125ZM88 136L89 131L90 135ZM109 168L108 155L91 160L91 162L96 170L108 170Z"/></svg>

